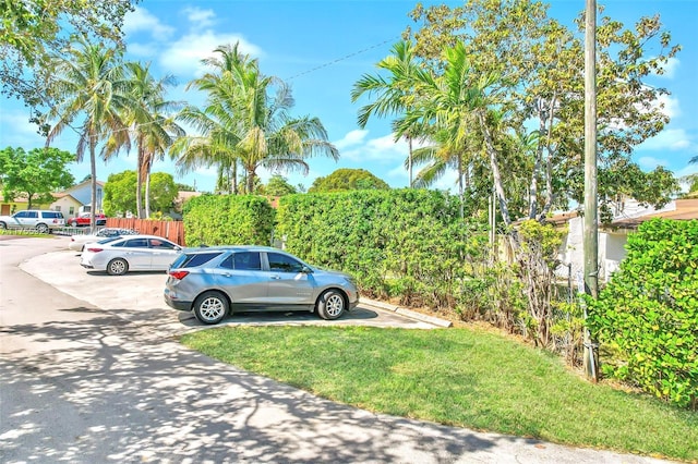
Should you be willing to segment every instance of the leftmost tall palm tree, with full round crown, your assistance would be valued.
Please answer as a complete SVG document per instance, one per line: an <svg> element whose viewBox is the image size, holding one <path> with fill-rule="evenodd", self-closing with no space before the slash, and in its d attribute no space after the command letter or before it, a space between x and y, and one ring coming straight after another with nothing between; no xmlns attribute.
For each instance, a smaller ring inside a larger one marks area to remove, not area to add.
<svg viewBox="0 0 698 464"><path fill-rule="evenodd" d="M123 78L121 50L89 44L84 37L80 37L74 45L75 47L67 50L67 56L53 57L59 102L47 113L48 120L55 120L56 123L48 133L46 145L49 146L70 127L80 135L76 160L82 161L85 150L89 151L91 224L94 228L97 207L97 146L100 142L106 142L105 148L130 148L128 127L122 114L134 103ZM75 120L81 120L77 127L73 126ZM106 152L103 149L101 156Z"/></svg>

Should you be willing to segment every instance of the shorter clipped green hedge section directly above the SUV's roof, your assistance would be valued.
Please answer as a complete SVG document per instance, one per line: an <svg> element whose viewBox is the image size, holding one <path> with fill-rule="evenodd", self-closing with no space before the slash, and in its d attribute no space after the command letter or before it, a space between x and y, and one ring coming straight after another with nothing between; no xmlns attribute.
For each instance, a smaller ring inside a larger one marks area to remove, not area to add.
<svg viewBox="0 0 698 464"><path fill-rule="evenodd" d="M203 195L184 204L186 246L269 245L275 211L255 195Z"/></svg>

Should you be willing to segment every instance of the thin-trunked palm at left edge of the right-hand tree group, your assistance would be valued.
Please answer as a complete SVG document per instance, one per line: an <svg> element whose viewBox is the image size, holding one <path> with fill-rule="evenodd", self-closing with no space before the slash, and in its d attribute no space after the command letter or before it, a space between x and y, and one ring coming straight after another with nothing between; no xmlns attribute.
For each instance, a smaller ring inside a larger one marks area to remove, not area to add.
<svg viewBox="0 0 698 464"><path fill-rule="evenodd" d="M378 118L386 115L401 114L409 111L416 103L417 96L414 84L423 80L426 71L417 62L411 41L401 40L393 46L393 54L381 60L376 66L389 73L388 77L382 75L364 74L353 85L351 101L357 101L364 94L369 97L376 94L375 101L365 105L359 110L358 123L361 129L365 127L371 114ZM404 133L408 143L407 169L409 172L409 185L412 186L413 150L412 139L414 132Z"/></svg>

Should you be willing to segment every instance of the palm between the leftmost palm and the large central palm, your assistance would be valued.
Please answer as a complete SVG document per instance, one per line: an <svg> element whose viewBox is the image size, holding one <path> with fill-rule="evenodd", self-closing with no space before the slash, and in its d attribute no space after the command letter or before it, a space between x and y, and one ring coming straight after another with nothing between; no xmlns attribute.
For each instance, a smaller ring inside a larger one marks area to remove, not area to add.
<svg viewBox="0 0 698 464"><path fill-rule="evenodd" d="M137 144L136 209L139 218L151 216L149 179L153 162L156 157L163 159L174 139L184 135L184 130L177 124L172 115L181 103L165 99L166 87L176 83L174 77L167 75L156 80L149 69L149 63L146 65L127 63L130 90L139 101L139 106L132 108L127 118ZM141 202L143 185L145 185L145 207Z"/></svg>

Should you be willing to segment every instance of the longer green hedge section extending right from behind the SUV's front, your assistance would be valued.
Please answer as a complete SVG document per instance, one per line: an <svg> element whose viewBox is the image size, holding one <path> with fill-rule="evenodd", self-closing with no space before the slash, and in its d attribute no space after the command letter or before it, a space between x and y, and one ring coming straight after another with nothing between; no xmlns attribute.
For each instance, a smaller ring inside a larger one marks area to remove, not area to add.
<svg viewBox="0 0 698 464"><path fill-rule="evenodd" d="M453 307L486 233L459 220L456 197L425 190L288 195L277 237L315 265L351 272L366 296Z"/></svg>

